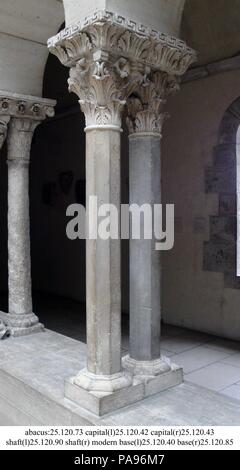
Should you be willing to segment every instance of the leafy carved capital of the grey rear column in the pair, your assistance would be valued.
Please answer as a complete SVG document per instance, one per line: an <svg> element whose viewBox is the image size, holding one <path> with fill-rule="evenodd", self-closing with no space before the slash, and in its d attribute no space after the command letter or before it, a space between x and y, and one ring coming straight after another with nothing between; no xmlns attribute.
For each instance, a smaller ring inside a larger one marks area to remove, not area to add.
<svg viewBox="0 0 240 470"><path fill-rule="evenodd" d="M154 72L149 80L140 85L127 101L127 125L129 133L154 133L161 136L167 113L163 105L167 96L179 89L175 77L165 72Z"/></svg>

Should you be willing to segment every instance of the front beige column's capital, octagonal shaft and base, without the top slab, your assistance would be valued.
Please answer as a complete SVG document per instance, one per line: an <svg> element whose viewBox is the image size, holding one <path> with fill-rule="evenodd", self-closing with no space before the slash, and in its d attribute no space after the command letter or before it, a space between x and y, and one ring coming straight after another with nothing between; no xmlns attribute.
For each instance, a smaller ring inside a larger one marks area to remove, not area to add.
<svg viewBox="0 0 240 470"><path fill-rule="evenodd" d="M99 52L95 57L84 71L79 63L71 68L69 79L69 89L80 98L86 119L88 227L92 198L96 198L97 210L107 204L120 214L121 115L127 94L109 56ZM78 396L79 401L86 391L96 392L101 409L106 393L114 395L131 387L132 378L121 366L120 227L115 239L102 239L98 227L93 229L96 238L90 229L86 242L87 367L66 384L65 391L68 398ZM92 396L86 398L89 406Z"/></svg>

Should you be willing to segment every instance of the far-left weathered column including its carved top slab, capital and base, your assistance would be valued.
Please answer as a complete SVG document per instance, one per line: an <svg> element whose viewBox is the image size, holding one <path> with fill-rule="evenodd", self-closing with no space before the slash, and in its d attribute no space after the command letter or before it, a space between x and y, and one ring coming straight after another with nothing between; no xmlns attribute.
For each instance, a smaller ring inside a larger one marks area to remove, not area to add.
<svg viewBox="0 0 240 470"><path fill-rule="evenodd" d="M43 330L32 308L29 163L32 137L38 124L53 116L54 101L7 95L1 109L11 118L8 132L8 313L0 317L12 336Z"/></svg>

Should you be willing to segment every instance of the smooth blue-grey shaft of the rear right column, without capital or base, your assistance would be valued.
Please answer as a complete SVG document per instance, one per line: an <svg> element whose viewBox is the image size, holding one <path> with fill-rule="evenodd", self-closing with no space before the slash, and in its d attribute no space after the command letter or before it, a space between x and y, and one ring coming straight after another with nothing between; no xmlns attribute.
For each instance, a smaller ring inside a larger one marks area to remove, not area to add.
<svg viewBox="0 0 240 470"><path fill-rule="evenodd" d="M130 136L130 204L161 204L160 135ZM130 356L160 358L161 265L155 241L130 240Z"/></svg>

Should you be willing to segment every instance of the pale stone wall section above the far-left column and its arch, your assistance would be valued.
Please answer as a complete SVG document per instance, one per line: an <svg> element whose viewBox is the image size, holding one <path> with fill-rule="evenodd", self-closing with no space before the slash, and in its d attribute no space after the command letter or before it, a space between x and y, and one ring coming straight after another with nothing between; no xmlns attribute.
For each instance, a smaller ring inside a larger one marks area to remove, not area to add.
<svg viewBox="0 0 240 470"><path fill-rule="evenodd" d="M0 90L42 96L47 40L64 19L59 0L1 0Z"/></svg>

